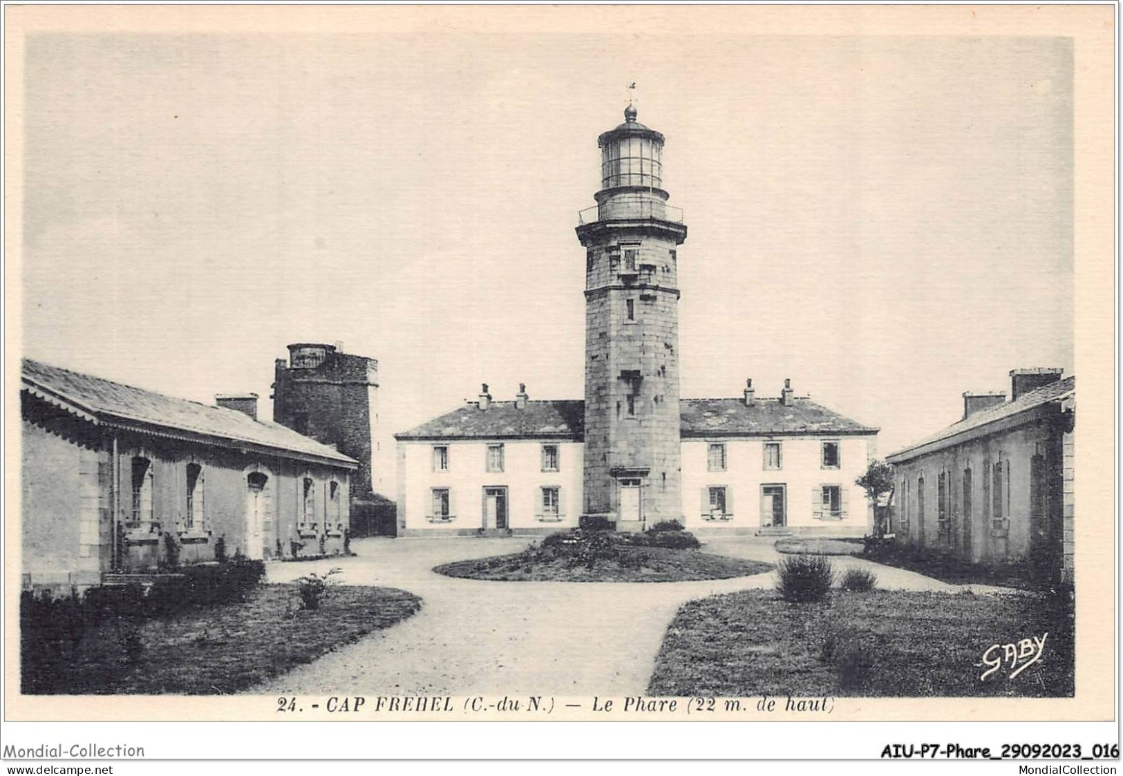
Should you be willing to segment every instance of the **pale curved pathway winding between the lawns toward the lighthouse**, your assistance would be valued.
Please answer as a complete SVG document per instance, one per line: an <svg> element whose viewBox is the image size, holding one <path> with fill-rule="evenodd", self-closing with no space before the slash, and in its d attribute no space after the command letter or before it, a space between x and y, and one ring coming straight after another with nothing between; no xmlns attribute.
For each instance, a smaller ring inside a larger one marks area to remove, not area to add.
<svg viewBox="0 0 1123 776"><path fill-rule="evenodd" d="M433 573L442 563L517 553L529 539L362 539L358 557L268 565L270 582L339 566L344 584L401 587L421 611L259 685L254 694L348 693L634 695L686 601L770 587L773 574L675 583L483 582ZM775 563L772 540L721 539L705 551ZM955 591L930 577L857 558L887 588ZM998 590L998 588L993 588ZM984 592L979 590L978 592Z"/></svg>

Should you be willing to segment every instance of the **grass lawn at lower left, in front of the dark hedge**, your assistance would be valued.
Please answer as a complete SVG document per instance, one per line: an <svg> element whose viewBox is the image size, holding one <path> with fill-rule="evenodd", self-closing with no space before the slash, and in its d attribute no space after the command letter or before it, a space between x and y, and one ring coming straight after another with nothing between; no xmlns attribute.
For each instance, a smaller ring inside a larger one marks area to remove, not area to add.
<svg viewBox="0 0 1123 776"><path fill-rule="evenodd" d="M225 695L412 615L421 600L392 587L334 586L301 610L298 585L259 585L243 602L91 628L47 684L25 693ZM127 649L130 647L130 649Z"/></svg>

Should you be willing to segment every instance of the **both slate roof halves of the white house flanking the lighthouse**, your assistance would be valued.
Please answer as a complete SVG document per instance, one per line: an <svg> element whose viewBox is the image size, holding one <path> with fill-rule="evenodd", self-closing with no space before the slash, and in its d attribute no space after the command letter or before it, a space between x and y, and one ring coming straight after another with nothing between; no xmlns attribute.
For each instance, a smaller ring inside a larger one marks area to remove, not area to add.
<svg viewBox="0 0 1123 776"><path fill-rule="evenodd" d="M810 399L784 405L779 399L757 399L746 407L740 399L683 399L682 436L741 437L784 433L877 433ZM585 402L530 401L523 410L514 402L492 402L486 410L466 404L394 435L398 439L584 439Z"/></svg>

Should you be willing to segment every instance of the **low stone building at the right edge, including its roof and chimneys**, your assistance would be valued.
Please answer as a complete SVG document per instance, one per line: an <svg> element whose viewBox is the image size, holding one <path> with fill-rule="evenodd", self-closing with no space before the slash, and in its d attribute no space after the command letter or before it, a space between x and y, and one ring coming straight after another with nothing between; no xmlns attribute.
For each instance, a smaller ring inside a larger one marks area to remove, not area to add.
<svg viewBox="0 0 1123 776"><path fill-rule="evenodd" d="M1043 577L1074 569L1076 378L1013 369L1002 392L965 393L964 417L898 450L898 540L973 563L1029 562Z"/></svg>

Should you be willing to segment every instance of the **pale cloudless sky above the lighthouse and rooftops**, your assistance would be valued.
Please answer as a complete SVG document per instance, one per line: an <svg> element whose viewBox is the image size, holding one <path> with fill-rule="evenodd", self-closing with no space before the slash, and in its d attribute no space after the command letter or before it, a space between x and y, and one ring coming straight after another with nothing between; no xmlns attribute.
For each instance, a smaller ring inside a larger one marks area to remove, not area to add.
<svg viewBox="0 0 1123 776"><path fill-rule="evenodd" d="M1017 37L42 36L26 355L210 401L380 362L384 444L584 395L596 136L664 133L682 395L797 394L879 454L1072 369L1071 47ZM392 475L391 475L392 478Z"/></svg>

